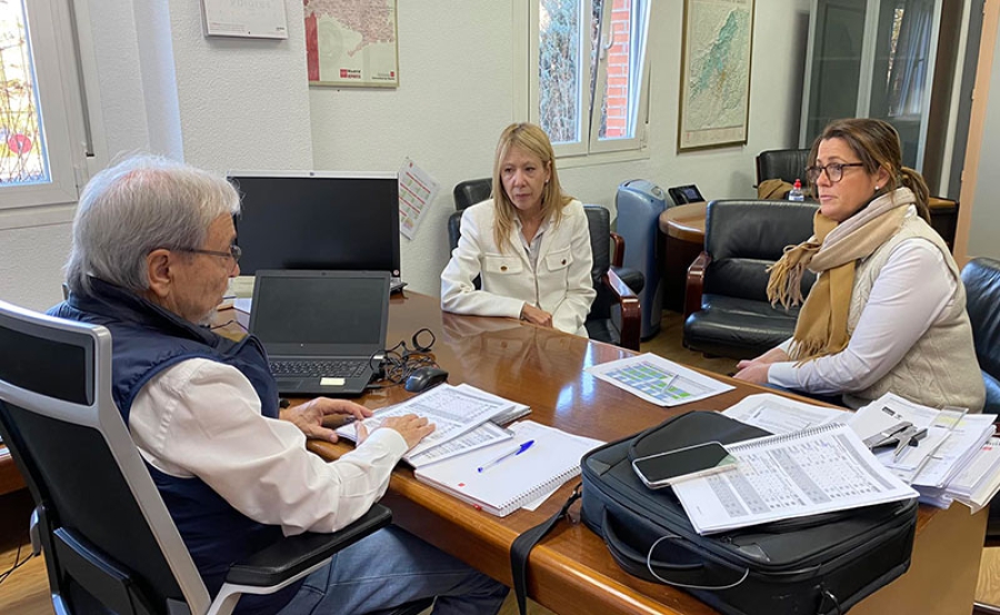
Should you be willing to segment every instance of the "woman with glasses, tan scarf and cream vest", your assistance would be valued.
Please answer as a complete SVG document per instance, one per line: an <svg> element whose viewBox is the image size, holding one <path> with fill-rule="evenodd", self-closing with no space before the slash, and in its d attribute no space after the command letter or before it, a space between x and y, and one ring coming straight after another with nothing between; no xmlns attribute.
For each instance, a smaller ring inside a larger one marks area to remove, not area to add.
<svg viewBox="0 0 1000 615"><path fill-rule="evenodd" d="M980 412L984 390L959 269L928 223L928 188L881 120L831 122L806 178L813 235L771 268L768 298L802 308L794 335L736 377L859 407L887 392ZM806 270L818 274L802 302Z"/></svg>

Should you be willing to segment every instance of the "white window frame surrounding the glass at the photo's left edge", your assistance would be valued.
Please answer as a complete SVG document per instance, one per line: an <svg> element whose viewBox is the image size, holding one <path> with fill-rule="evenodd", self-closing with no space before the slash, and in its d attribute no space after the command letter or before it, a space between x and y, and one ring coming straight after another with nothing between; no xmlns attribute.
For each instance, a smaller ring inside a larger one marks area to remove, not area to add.
<svg viewBox="0 0 1000 615"><path fill-rule="evenodd" d="M80 77L84 62L73 27L74 12L86 14L86 6L79 0L32 0L22 6L50 181L0 186L0 229L71 220L94 158Z"/></svg>

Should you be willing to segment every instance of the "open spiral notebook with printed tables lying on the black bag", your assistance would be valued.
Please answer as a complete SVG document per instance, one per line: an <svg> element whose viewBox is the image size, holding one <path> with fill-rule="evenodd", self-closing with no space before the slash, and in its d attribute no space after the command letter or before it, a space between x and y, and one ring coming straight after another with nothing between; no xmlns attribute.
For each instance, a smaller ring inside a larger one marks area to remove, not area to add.
<svg viewBox="0 0 1000 615"><path fill-rule="evenodd" d="M672 485L699 534L917 497L849 426L727 445L732 470Z"/></svg>

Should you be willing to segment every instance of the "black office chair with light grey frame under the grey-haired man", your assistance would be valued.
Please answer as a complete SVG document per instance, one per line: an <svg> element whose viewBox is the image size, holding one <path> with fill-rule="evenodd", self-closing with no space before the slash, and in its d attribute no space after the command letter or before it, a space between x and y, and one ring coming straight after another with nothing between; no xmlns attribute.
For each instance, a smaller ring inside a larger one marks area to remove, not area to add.
<svg viewBox="0 0 1000 615"><path fill-rule="evenodd" d="M227 615L391 521L376 505L340 532L284 538L234 563L212 599L111 396L108 330L0 302L0 435L34 498L57 614Z"/></svg>

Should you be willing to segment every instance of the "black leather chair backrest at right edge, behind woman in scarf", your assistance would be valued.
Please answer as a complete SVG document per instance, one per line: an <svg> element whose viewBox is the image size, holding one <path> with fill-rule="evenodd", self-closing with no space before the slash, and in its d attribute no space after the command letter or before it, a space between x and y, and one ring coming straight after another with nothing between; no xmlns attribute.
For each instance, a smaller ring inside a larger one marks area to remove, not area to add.
<svg viewBox="0 0 1000 615"><path fill-rule="evenodd" d="M962 268L962 283L976 359L987 382L983 412L1000 414L1000 261L972 259Z"/></svg>

